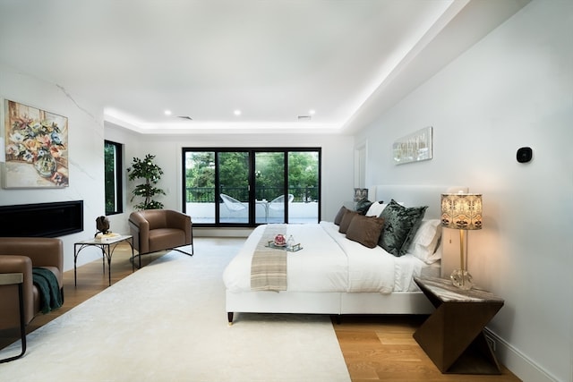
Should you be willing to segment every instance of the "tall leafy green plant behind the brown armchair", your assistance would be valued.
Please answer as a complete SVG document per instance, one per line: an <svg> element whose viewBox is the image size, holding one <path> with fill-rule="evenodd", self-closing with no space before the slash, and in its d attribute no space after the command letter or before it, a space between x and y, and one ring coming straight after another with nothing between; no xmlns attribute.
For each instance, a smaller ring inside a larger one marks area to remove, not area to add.
<svg viewBox="0 0 573 382"><path fill-rule="evenodd" d="M132 166L127 168L127 173L129 174L129 180L134 181L137 179L143 179L145 182L138 184L132 191L133 201L135 197L145 198L141 203L136 204L133 208L136 209L160 209L163 208L163 203L154 200L153 197L156 195L165 195L165 191L159 189L155 185L161 179L163 170L161 167L153 163L155 159L154 155L146 155L143 159L139 157L134 157Z"/></svg>

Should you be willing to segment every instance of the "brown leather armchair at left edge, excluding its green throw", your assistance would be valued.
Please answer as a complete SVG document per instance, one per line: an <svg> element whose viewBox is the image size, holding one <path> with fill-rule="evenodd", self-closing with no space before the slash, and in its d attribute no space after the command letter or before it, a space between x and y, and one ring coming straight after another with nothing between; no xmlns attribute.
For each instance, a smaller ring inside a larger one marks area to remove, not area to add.
<svg viewBox="0 0 573 382"><path fill-rule="evenodd" d="M25 326L41 310L40 293L33 284L32 267L45 267L56 275L64 296L64 245L60 239L42 237L0 237L0 275L22 274L23 320L17 284L0 285L0 329ZM22 329L22 352L26 337ZM13 359L21 357L13 357ZM11 359L12 360L12 359ZM4 360L6 361L6 360Z"/></svg>

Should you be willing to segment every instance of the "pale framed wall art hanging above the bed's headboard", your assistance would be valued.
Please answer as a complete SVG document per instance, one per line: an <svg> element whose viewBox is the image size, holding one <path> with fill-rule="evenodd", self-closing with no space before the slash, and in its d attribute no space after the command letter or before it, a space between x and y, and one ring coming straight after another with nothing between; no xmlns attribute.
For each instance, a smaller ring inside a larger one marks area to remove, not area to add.
<svg viewBox="0 0 573 382"><path fill-rule="evenodd" d="M392 152L397 165L432 159L432 127L423 128L396 140Z"/></svg>

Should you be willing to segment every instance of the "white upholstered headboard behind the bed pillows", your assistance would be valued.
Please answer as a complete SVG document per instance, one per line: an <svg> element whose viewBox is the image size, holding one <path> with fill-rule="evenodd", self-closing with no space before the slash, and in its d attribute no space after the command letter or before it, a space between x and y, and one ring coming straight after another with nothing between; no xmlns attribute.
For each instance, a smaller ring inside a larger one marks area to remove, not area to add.
<svg viewBox="0 0 573 382"><path fill-rule="evenodd" d="M441 194L468 190L465 186L377 184L368 189L368 199L384 203L394 199L406 207L428 206L424 218L439 219Z"/></svg>

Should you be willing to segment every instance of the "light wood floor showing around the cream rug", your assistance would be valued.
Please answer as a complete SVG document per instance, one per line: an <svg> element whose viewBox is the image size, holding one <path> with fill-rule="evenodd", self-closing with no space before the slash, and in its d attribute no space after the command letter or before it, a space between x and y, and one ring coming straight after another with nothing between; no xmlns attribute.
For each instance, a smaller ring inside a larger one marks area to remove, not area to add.
<svg viewBox="0 0 573 382"><path fill-rule="evenodd" d="M199 241L225 239L197 238ZM164 252L145 255L142 265L162 256ZM127 244L118 245L112 258L112 284L132 274L129 261L131 251ZM28 326L28 333L71 310L82 301L107 288L102 262L93 261L78 267L78 286L73 285L73 270L64 273L64 306L46 315L38 315ZM346 367L353 382L407 381L407 382L515 382L519 379L508 369L500 376L460 376L441 374L426 356L412 335L425 317L418 316L345 316L341 324L333 322ZM333 319L334 320L334 319ZM0 334L0 348L14 341Z"/></svg>

